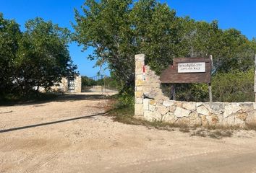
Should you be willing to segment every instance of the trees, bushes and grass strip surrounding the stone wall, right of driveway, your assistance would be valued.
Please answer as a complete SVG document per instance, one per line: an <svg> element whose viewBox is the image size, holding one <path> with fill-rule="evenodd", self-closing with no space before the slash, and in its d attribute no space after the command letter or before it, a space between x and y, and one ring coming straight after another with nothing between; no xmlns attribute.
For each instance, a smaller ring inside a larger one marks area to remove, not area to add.
<svg viewBox="0 0 256 173"><path fill-rule="evenodd" d="M137 120L134 115L135 55L144 53L145 63L156 74L179 57L213 56L213 101L253 101L256 38L249 40L239 30L219 28L218 21L195 21L178 17L174 9L156 0L85 1L75 10L73 40L83 50L93 47L88 56L95 66L107 64L119 86L119 97L108 115L121 123L145 125L149 128L178 128L192 136L221 138L231 136L229 130L194 130L184 125ZM163 85L169 95L171 86ZM176 99L208 101L205 84L176 84ZM226 132L224 132L226 131Z"/></svg>

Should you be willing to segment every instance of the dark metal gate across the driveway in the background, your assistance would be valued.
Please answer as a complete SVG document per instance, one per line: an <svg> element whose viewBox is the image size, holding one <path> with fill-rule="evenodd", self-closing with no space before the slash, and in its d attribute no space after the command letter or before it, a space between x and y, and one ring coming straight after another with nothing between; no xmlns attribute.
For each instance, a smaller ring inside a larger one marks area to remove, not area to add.
<svg viewBox="0 0 256 173"><path fill-rule="evenodd" d="M117 83L110 76L82 76L82 92L117 92Z"/></svg>

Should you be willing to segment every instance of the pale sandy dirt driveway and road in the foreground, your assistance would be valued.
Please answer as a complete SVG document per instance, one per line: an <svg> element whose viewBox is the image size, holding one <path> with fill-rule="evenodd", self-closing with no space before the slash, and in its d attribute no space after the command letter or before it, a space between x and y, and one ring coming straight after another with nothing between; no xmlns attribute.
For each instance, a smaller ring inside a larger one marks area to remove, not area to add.
<svg viewBox="0 0 256 173"><path fill-rule="evenodd" d="M256 135L220 140L116 123L101 95L0 107L0 172L256 172Z"/></svg>

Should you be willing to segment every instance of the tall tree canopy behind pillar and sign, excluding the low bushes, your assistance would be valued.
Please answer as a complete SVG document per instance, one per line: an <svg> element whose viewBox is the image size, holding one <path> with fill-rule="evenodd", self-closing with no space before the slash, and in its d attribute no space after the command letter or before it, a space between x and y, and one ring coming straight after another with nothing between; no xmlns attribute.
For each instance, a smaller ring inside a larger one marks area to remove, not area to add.
<svg viewBox="0 0 256 173"><path fill-rule="evenodd" d="M247 71L253 67L255 40L238 30L221 30L218 22L196 22L176 17L167 4L156 0L87 0L82 14L75 11L74 40L93 47L89 59L107 63L121 89L134 88L135 54L158 74L174 57L213 55L214 71Z"/></svg>

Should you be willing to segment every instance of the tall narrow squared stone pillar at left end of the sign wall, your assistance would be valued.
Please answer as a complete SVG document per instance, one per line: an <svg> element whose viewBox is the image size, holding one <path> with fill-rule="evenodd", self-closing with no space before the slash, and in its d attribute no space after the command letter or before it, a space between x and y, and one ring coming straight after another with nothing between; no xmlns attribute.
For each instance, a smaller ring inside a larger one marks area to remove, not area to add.
<svg viewBox="0 0 256 173"><path fill-rule="evenodd" d="M145 55L135 55L135 116L143 117L143 67Z"/></svg>

